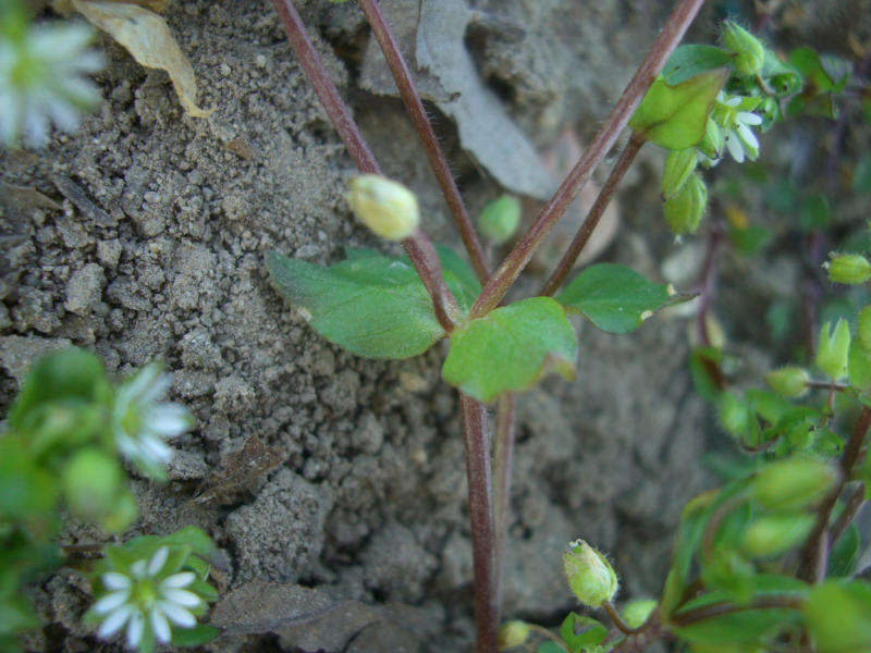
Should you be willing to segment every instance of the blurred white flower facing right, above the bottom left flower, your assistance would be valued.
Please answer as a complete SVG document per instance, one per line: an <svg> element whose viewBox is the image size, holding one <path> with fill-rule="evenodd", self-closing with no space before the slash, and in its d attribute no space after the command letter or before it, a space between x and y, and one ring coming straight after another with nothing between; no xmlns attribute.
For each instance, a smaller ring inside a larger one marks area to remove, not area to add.
<svg viewBox="0 0 871 653"><path fill-rule="evenodd" d="M121 454L157 477L172 460L172 448L163 441L194 426L184 406L156 403L170 383L160 364L152 362L122 383L112 410L112 432Z"/></svg>

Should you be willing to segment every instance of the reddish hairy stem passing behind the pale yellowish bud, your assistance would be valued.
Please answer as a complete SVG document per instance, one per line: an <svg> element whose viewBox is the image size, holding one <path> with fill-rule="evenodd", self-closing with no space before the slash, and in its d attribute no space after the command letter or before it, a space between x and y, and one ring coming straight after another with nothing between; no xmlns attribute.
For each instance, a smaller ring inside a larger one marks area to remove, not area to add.
<svg viewBox="0 0 871 653"><path fill-rule="evenodd" d="M327 115L339 133L339 137L344 143L351 159L360 172L381 174L381 168L378 165L375 155L372 155L357 123L351 115L351 110L339 95L335 84L332 83L332 79L327 74L320 57L311 44L311 39L308 38L296 7L292 0L272 0L272 4L275 7L275 12L279 14L284 33L287 35L287 40L291 41L291 47L299 60L306 77L315 88L315 94L327 111ZM445 331L452 331L458 309L456 300L444 283L441 264L434 254L432 243L422 231L417 230L405 238L402 245L418 276L424 282L424 286L429 292L439 323Z"/></svg>

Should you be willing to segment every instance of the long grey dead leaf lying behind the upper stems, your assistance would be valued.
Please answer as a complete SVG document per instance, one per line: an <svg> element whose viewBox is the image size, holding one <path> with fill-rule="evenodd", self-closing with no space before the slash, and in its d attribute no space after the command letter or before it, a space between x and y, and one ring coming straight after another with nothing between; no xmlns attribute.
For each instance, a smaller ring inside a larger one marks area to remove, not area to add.
<svg viewBox="0 0 871 653"><path fill-rule="evenodd" d="M456 122L463 148L503 187L548 199L556 184L541 168L532 144L483 84L466 49L471 15L465 0L420 0L417 64L456 97L438 107Z"/></svg>

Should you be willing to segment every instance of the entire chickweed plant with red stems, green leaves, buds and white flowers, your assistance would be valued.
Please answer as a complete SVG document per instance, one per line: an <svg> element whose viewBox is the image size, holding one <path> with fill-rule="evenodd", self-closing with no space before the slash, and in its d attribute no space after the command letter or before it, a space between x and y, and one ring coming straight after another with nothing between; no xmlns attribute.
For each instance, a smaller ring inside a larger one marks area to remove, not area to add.
<svg viewBox="0 0 871 653"><path fill-rule="evenodd" d="M577 540L567 543L563 556L568 587L581 604L601 611L592 613L598 617L573 612L559 632L518 620L501 625L515 395L550 372L575 377L578 341L569 316L628 334L658 310L690 298L611 263L589 266L569 279L638 151L648 143L665 150L664 223L676 236L690 236L708 210L708 169L726 156L737 163L755 161L761 135L785 119L833 118L845 90L867 97L867 89L849 86L846 62L809 48L780 56L734 22L722 26L720 46L679 46L702 3L676 3L575 168L532 226L514 236L518 208L507 197L496 198L479 230L474 226L378 1L359 0L469 266L430 242L415 196L380 174L293 2L273 0L306 75L359 169L346 195L351 209L375 234L400 242L406 256L348 250L344 261L321 267L273 251L269 272L315 331L355 355L405 359L449 341L442 377L457 390L462 410L478 653L512 646L541 653L641 651L658 640L700 653L871 650L871 588L856 576L860 541L854 525L871 482L866 456L871 307L854 311L849 321L823 324L812 365L772 371L770 390L732 389L723 353L702 338L691 360L697 387L716 405L722 428L745 457L729 468L722 488L684 508L661 595L618 609L612 564ZM13 44L16 56L30 51L25 42ZM9 50L2 47L0 53ZM0 78L3 133L14 137L22 128L19 114L9 109L10 98L29 97L33 85L48 85L49 77L34 77L28 85ZM38 136L39 130L25 127L25 136ZM503 304L536 248L627 127L610 176L562 260L535 296ZM478 231L490 241L488 247ZM493 267L489 245L512 237L513 248ZM862 284L871 276L871 263L861 252L833 255L827 273L837 283ZM165 386L159 368L149 366L113 387L99 360L82 350L53 355L30 372L0 438L0 606L9 615L0 620L2 644L12 646L15 632L36 625L19 588L63 564L63 550L56 543L58 500L73 516L121 532L136 514L121 460L156 480L163 478L171 456L164 441L192 426L182 407L157 403ZM214 631L198 626L196 618L216 599L206 582L212 551L209 539L191 528L107 545L103 557L85 569L96 599L86 621L98 637L123 638L140 651L156 643L207 640Z"/></svg>

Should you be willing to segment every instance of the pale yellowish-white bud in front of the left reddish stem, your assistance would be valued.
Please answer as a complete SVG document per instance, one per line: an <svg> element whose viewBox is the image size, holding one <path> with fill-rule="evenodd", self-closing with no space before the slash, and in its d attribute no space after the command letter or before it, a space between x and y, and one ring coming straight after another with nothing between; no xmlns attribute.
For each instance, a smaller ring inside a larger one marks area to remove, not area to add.
<svg viewBox="0 0 871 653"><path fill-rule="evenodd" d="M410 236L420 222L415 194L377 174L363 174L352 180L345 198L357 219L388 241Z"/></svg>

